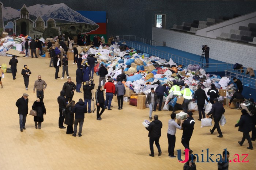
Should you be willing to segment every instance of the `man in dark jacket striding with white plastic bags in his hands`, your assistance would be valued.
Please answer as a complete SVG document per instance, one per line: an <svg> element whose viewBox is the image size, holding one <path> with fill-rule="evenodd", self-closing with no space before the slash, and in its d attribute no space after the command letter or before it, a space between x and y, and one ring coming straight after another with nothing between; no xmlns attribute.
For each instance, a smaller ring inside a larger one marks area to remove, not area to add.
<svg viewBox="0 0 256 170"><path fill-rule="evenodd" d="M209 115L212 114L214 118L214 126L212 129L210 129L211 134L213 134L214 130L217 129L219 135L218 138L222 138L222 132L221 128L219 127L219 121L221 120L221 116L225 113L225 109L223 107L223 104L218 102L218 98L214 98L214 104L211 107L211 111L207 114L207 118Z"/></svg>

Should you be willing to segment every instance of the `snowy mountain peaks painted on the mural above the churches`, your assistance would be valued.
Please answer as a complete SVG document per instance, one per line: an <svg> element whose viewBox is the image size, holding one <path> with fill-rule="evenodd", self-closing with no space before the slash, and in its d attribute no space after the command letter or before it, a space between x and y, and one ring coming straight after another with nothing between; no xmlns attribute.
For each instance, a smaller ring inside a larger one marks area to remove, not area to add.
<svg viewBox="0 0 256 170"><path fill-rule="evenodd" d="M75 22L75 23L88 23L88 24L96 24L90 19L85 18L80 13L74 11L69 8L67 5L54 4L54 5L33 5L27 7L29 10L30 19L35 21L34 18L41 16L41 18L46 21L49 18L58 19L59 22L63 20L63 22ZM17 9L11 7L3 7L2 9L3 19L5 21L13 20L14 18L19 18L20 13Z"/></svg>

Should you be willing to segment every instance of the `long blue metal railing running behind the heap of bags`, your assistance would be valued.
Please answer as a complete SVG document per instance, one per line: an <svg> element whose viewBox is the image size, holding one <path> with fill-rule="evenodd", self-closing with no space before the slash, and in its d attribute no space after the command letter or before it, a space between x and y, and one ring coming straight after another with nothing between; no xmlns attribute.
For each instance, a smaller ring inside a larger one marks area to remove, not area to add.
<svg viewBox="0 0 256 170"><path fill-rule="evenodd" d="M224 71L226 69L231 69L233 67L233 65L230 63L211 63L211 64L208 64L209 67L206 67L206 63L201 63L199 61L194 61L194 60L181 57L175 54L167 53L165 51L154 49L153 47L143 46L136 42L131 42L126 39L120 39L120 40L121 42L125 42L126 45L129 47L143 51L144 53L148 53L148 54L160 57L162 59L166 59L168 61L172 59L173 62L181 64L183 66L188 66L189 64L200 65L203 67L203 69L206 72L218 72L220 68L222 68L222 70Z"/></svg>

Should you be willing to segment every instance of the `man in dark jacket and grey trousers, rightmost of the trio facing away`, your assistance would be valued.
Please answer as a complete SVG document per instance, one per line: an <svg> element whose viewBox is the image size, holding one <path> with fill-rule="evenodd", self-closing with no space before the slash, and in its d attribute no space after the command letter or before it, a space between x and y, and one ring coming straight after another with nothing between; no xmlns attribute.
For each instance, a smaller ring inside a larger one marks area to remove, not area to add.
<svg viewBox="0 0 256 170"><path fill-rule="evenodd" d="M75 104L72 112L75 113L75 121L74 121L74 134L72 136L76 137L77 132L77 125L79 123L79 132L78 136L82 136L82 129L83 129L83 121L84 121L84 113L87 112L86 105L83 102L83 99L80 98L78 103Z"/></svg>

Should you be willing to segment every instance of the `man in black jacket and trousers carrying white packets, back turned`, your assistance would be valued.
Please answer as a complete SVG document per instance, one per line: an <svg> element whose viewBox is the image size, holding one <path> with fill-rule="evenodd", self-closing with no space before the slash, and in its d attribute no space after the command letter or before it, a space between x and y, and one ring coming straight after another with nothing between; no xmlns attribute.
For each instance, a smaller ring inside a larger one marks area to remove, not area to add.
<svg viewBox="0 0 256 170"><path fill-rule="evenodd" d="M158 115L154 115L154 120L146 128L149 131L148 137L149 137L149 147L151 152L151 154L149 154L150 157L154 157L154 146L153 146L154 142L158 149L158 157L160 157L162 154L161 147L159 144L162 127L163 127L163 124L160 120L158 120Z"/></svg>

